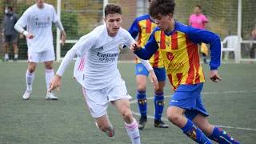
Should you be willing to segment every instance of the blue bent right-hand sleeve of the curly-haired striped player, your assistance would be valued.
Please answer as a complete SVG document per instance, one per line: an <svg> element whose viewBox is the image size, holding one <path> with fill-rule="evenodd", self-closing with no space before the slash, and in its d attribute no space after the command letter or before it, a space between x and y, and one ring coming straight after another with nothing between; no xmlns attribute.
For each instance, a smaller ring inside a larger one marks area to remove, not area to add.
<svg viewBox="0 0 256 144"><path fill-rule="evenodd" d="M192 26L187 26L187 29L188 37L195 44L199 42L210 44L210 70L218 70L221 56L221 40L219 36L208 30L196 29Z"/></svg>

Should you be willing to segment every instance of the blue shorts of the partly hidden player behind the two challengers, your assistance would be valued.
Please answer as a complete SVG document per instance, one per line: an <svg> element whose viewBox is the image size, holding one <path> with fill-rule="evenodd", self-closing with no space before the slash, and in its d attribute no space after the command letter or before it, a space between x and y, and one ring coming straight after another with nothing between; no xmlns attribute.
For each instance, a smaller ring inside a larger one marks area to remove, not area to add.
<svg viewBox="0 0 256 144"><path fill-rule="evenodd" d="M158 67L154 68L154 73L158 78L158 82L166 81L166 69L164 67ZM142 63L136 64L135 68L135 74L136 75L149 75L149 71L146 70L146 67Z"/></svg>

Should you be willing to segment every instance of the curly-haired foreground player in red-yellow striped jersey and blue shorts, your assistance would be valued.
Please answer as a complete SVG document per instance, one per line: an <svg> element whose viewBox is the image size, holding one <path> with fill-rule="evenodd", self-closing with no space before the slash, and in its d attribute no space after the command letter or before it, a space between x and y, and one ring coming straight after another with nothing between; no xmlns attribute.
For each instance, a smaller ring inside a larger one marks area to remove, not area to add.
<svg viewBox="0 0 256 144"><path fill-rule="evenodd" d="M218 79L221 80L218 75L220 39L210 31L176 22L173 18L174 6L174 0L152 1L149 14L155 19L158 28L150 35L145 49L138 43L131 49L139 58L149 59L160 48L168 78L175 90L167 110L170 122L198 143L212 143L208 139L210 138L222 144L237 144L239 142L225 131L209 124L206 118L209 114L201 98L205 77L200 66L198 42L210 43L210 79L218 82Z"/></svg>

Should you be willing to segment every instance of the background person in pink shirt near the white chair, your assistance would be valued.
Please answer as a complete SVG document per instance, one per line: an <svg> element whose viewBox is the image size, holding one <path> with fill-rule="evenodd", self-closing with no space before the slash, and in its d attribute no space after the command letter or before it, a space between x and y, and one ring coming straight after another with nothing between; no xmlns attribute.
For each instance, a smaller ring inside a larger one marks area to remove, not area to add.
<svg viewBox="0 0 256 144"><path fill-rule="evenodd" d="M207 25L208 19L204 14L201 14L201 6L194 6L194 14L190 15L190 21L189 25L193 26L198 29L206 30L206 25ZM201 49L201 42L198 43L199 48ZM207 64L206 61L206 52L202 51L202 58L203 62Z"/></svg>

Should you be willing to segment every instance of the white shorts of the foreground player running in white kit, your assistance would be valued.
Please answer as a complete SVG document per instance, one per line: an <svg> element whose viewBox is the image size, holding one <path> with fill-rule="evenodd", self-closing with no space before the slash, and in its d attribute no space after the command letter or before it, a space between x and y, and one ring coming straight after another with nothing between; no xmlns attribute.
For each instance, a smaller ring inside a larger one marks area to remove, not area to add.
<svg viewBox="0 0 256 144"><path fill-rule="evenodd" d="M126 83L124 81L120 82L118 85L107 86L101 90L88 90L83 88L83 93L90 114L94 118L99 118L106 114L109 102L131 98L126 90Z"/></svg>

